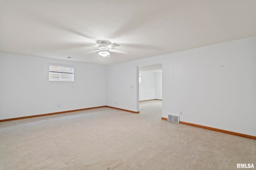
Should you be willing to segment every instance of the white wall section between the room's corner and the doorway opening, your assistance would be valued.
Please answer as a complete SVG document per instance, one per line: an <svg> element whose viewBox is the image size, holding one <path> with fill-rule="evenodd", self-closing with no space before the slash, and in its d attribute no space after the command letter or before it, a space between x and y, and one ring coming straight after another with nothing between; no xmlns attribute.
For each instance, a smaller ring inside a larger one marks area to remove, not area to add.
<svg viewBox="0 0 256 170"><path fill-rule="evenodd" d="M122 63L107 68L107 106L138 111L138 66Z"/></svg>

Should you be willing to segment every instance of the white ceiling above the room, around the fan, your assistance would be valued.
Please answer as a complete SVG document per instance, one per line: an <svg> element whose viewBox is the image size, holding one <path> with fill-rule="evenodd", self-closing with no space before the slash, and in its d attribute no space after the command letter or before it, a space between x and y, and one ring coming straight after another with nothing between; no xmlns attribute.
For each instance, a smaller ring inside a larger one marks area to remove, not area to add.
<svg viewBox="0 0 256 170"><path fill-rule="evenodd" d="M252 36L256 0L0 0L7 53L109 65ZM82 55L98 40L129 53Z"/></svg>

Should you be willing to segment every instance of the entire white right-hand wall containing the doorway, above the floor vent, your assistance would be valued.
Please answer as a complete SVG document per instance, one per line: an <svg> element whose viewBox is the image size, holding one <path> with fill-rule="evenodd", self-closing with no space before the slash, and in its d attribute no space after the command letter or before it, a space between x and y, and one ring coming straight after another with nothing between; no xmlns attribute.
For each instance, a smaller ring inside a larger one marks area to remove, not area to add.
<svg viewBox="0 0 256 170"><path fill-rule="evenodd" d="M107 66L107 104L139 111L137 66L162 63L162 117L256 136L255 47L250 37Z"/></svg>

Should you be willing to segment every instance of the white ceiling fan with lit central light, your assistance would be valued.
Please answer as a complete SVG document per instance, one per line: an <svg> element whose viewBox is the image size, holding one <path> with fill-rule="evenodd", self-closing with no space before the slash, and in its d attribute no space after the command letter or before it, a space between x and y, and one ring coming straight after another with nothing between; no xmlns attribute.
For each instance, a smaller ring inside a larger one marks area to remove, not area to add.
<svg viewBox="0 0 256 170"><path fill-rule="evenodd" d="M120 46L117 43L110 44L110 41L107 41L107 40L99 40L99 41L97 41L97 43L100 44L100 45L98 45L98 47L92 47L92 46L88 46L88 45L82 45L82 46L96 48L96 49L98 49L96 51L99 51L98 54L101 55L102 57L106 57L106 58L111 57L109 52L122 53L122 54L128 53L128 51L114 49L114 48ZM93 53L96 51L91 51L88 53ZM83 53L83 54L88 54L88 53Z"/></svg>

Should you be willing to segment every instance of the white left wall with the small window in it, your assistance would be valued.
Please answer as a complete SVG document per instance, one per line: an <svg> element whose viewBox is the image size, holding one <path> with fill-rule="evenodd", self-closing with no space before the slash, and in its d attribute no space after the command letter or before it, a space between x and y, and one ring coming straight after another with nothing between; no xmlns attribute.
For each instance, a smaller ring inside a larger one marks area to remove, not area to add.
<svg viewBox="0 0 256 170"><path fill-rule="evenodd" d="M49 81L49 63L74 65L74 82ZM0 119L106 106L106 66L0 53L0 78Z"/></svg>

